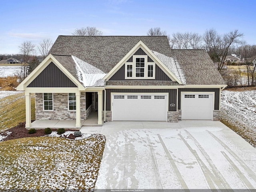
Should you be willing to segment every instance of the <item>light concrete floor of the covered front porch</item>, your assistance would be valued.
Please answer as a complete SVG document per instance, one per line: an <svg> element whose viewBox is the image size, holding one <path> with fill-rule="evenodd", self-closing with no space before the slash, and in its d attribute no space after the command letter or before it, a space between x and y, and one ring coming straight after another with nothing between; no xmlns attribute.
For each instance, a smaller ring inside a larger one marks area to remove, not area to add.
<svg viewBox="0 0 256 192"><path fill-rule="evenodd" d="M98 125L98 112L92 111L86 120L81 120L82 126L102 126ZM81 128L80 127L80 128ZM66 128L66 129L80 129L76 127L76 120L35 120L31 123L31 127L34 129L44 128Z"/></svg>

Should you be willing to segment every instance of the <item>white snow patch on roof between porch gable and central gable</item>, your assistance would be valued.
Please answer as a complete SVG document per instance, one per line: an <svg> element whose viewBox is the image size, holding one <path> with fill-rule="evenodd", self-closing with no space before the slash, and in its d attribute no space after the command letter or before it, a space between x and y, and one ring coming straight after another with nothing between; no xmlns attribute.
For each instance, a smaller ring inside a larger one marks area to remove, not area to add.
<svg viewBox="0 0 256 192"><path fill-rule="evenodd" d="M82 82L85 87L104 86L105 81L102 80L102 78L106 73L75 56L72 56L72 58L76 63L78 80Z"/></svg>

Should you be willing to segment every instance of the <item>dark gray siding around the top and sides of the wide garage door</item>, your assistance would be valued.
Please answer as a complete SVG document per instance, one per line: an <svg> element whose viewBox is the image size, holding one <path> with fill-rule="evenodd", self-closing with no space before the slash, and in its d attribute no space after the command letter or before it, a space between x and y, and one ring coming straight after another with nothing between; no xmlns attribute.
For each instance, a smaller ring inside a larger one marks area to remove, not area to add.
<svg viewBox="0 0 256 192"><path fill-rule="evenodd" d="M168 93L168 111L176 111L177 90L176 89L106 89L106 110L111 109L111 93ZM175 107L170 104L174 103Z"/></svg>

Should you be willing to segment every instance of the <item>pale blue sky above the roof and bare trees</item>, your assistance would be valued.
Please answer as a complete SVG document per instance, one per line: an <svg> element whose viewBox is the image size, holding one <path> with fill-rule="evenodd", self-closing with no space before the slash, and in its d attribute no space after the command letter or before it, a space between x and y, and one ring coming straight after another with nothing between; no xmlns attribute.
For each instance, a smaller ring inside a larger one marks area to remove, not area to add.
<svg viewBox="0 0 256 192"><path fill-rule="evenodd" d="M0 54L17 54L26 41L72 35L94 26L104 35L168 34L238 29L256 44L256 0L0 0Z"/></svg>

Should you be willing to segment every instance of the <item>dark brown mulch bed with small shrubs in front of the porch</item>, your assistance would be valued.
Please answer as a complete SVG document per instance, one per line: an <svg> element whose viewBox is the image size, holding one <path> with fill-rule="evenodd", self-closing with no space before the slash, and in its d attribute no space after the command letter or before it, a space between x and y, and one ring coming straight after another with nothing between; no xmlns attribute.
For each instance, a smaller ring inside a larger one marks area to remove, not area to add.
<svg viewBox="0 0 256 192"><path fill-rule="evenodd" d="M28 130L25 128L25 122L20 123L18 126L10 128L8 130L5 130L2 135L6 136L6 131L12 132L9 134L6 138L4 138L4 141L10 140L10 139L17 139L17 138L23 138L23 137L41 137L44 136L44 129L36 129L36 133L28 134ZM57 131L57 129L52 129L52 131ZM65 129L65 131L74 131L72 129ZM1 134L1 133L0 133ZM73 134L70 134L67 138L69 139L75 139L76 137Z"/></svg>

